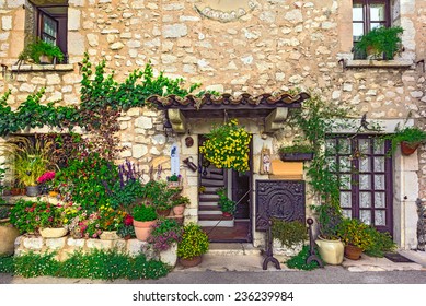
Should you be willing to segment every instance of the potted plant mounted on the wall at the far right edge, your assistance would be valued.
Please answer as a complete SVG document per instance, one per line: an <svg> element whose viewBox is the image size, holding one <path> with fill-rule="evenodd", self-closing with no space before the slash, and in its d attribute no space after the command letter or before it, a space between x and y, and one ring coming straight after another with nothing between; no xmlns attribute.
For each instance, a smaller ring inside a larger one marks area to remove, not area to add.
<svg viewBox="0 0 426 306"><path fill-rule="evenodd" d="M396 129L395 133L387 137L392 142L392 152L396 150L398 144L401 145L401 153L404 155L413 154L418 145L426 141L426 131L417 127L406 127Z"/></svg>

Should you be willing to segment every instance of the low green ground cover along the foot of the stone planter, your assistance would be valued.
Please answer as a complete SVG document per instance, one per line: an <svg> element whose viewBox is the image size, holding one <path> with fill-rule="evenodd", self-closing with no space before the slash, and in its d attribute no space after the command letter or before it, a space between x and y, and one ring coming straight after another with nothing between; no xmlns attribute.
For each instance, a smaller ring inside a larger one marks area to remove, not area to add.
<svg viewBox="0 0 426 306"><path fill-rule="evenodd" d="M0 272L24 278L57 276L92 280L159 279L169 273L161 261L147 260L145 255L129 257L117 250L94 249L73 252L66 261L55 260L55 254L25 254L0 257Z"/></svg>

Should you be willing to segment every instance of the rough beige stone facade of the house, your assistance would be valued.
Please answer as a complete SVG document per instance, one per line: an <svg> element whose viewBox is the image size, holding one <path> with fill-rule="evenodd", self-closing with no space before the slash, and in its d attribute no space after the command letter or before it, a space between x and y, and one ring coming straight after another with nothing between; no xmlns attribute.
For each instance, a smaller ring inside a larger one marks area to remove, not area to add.
<svg viewBox="0 0 426 306"><path fill-rule="evenodd" d="M238 95L312 89L329 101L354 107L359 117L367 114L368 119L392 125L411 116L415 125L425 126L426 81L422 63L416 64L426 56L425 1L391 1L392 21L405 30L405 50L393 67L367 68L349 60L352 0L257 0L252 11L232 22L200 15L194 9L197 2L69 0L70 64L50 71L12 71L24 46L25 0L1 1L0 62L8 70L0 76L0 92L12 90L12 107L42 86L46 87L46 102L76 104L81 80L78 62L88 51L93 62L104 58L122 80L151 61L157 72L219 92ZM146 167L160 163L172 143L183 142L179 137L165 137L161 113L131 109L120 122L122 141L128 146L123 157L133 157ZM197 128L208 126L193 123L192 131L200 133ZM266 140L261 133L258 128L253 161L258 160L263 144L276 153L283 140L279 133ZM182 144L187 151L183 156L196 156L195 146L197 143L189 150ZM186 175L185 192L195 200L187 214L196 220L197 179L189 172ZM262 176L254 170L257 177ZM411 248L415 239L406 224L416 215L415 199L426 197L425 148L418 150L418 158L396 153L394 180L396 240Z"/></svg>

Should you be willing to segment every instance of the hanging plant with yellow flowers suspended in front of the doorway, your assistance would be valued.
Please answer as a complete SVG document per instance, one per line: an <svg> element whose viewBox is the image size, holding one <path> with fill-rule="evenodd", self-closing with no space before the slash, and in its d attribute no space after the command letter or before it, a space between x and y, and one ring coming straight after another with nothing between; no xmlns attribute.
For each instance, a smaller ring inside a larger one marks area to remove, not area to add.
<svg viewBox="0 0 426 306"><path fill-rule="evenodd" d="M215 127L208 134L199 153L217 168L232 168L246 172L249 166L250 141L252 136L239 127L237 119Z"/></svg>

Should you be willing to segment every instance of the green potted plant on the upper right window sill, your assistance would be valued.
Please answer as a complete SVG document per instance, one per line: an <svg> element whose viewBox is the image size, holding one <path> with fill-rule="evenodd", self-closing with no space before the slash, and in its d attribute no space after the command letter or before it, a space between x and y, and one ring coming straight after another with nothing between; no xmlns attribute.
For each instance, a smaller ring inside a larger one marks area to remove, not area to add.
<svg viewBox="0 0 426 306"><path fill-rule="evenodd" d="M392 60L395 54L401 50L400 35L403 32L401 26L375 27L361 36L355 45L355 50L367 55L370 59Z"/></svg>

